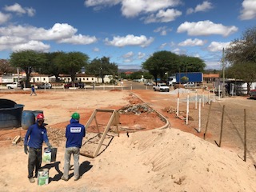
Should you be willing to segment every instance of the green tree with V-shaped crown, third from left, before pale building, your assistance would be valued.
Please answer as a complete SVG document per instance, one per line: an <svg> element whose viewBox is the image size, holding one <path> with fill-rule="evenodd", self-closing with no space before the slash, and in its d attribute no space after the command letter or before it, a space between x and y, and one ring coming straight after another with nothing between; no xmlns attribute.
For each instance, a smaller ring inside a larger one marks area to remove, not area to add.
<svg viewBox="0 0 256 192"><path fill-rule="evenodd" d="M86 66L89 57L81 52L60 53L54 58L54 63L66 74L70 74L71 82L74 83L75 75Z"/></svg>

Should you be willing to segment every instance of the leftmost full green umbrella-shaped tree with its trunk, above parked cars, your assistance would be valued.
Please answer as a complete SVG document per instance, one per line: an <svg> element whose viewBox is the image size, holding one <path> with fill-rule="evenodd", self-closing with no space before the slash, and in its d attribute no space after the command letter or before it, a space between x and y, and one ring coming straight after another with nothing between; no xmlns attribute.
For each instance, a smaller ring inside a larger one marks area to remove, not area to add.
<svg viewBox="0 0 256 192"><path fill-rule="evenodd" d="M30 87L30 74L32 70L40 67L45 62L43 54L34 50L22 50L10 54L11 66L20 67L26 73L26 87Z"/></svg>

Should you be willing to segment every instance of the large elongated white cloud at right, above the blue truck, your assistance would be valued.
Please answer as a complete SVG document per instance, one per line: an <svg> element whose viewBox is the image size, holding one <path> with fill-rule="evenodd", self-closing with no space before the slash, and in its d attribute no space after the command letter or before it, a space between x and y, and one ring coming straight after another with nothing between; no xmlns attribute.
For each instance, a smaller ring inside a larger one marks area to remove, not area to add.
<svg viewBox="0 0 256 192"><path fill-rule="evenodd" d="M187 34L191 36L220 34L223 37L227 37L236 31L238 31L238 27L236 26L223 26L222 24L216 24L209 20L200 22L183 22L178 26L177 30L178 33L187 32Z"/></svg>

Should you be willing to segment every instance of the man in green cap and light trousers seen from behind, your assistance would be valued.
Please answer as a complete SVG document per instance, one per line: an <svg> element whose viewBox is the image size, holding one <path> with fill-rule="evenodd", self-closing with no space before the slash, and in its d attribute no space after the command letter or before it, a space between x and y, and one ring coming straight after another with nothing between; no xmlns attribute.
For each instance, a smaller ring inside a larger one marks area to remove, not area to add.
<svg viewBox="0 0 256 192"><path fill-rule="evenodd" d="M86 136L86 128L79 123L80 114L74 113L71 116L70 124L66 126L66 150L64 174L62 180L69 180L70 158L74 158L74 181L78 181L79 175L79 153L82 146L82 138Z"/></svg>

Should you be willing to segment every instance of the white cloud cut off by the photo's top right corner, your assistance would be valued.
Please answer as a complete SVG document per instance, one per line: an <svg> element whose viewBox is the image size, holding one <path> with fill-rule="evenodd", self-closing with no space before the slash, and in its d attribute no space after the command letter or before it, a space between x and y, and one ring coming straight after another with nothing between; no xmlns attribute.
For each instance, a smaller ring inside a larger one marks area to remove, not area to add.
<svg viewBox="0 0 256 192"><path fill-rule="evenodd" d="M244 0L242 2L242 11L240 19L249 20L256 18L256 1L255 0Z"/></svg>

